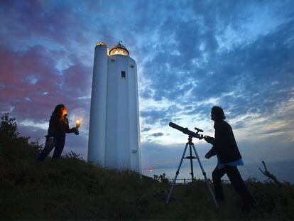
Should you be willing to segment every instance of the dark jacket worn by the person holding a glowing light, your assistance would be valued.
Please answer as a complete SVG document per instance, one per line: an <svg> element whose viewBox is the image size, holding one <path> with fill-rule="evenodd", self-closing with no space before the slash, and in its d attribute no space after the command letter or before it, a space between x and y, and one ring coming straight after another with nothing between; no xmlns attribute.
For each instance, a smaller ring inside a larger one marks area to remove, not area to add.
<svg viewBox="0 0 294 221"><path fill-rule="evenodd" d="M65 133L75 132L75 127L70 129L68 126L68 119L66 117L58 119L58 117L52 116L49 122L47 137L65 137Z"/></svg>

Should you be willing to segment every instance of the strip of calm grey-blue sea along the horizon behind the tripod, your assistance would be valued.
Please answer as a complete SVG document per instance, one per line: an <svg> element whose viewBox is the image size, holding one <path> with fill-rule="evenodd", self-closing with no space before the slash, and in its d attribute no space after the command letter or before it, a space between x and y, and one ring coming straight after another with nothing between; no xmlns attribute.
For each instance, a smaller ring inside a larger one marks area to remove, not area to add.
<svg viewBox="0 0 294 221"><path fill-rule="evenodd" d="M216 165L203 165L202 167L206 172L207 178L212 178L212 171L214 170ZM241 176L244 180L249 178L254 178L256 181L267 181L268 178L261 173L265 170L263 164L260 163L246 163L244 166L238 166ZM259 169L260 168L260 169ZM294 160L289 161L276 161L276 162L268 162L266 163L266 168L270 173L272 173L280 182L288 182L294 184ZM164 168L145 168L143 169L143 175L149 176L153 178L154 175L160 176L165 173L165 178L169 178L173 180L175 178L175 173L178 169L178 165L168 166ZM177 183L185 183L191 181L191 168L190 163L185 162L180 167L180 173L178 174L178 178L176 180ZM204 179L202 174L202 170L200 168L199 163L197 161L193 162L193 173L196 179ZM223 180L229 180L227 175L225 175Z"/></svg>

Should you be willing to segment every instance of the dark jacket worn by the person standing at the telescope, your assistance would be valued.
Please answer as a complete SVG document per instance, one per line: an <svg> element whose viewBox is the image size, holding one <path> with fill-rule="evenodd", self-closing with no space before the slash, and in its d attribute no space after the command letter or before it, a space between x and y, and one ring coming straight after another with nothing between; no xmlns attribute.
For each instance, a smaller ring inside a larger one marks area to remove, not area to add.
<svg viewBox="0 0 294 221"><path fill-rule="evenodd" d="M214 122L214 144L208 152L209 156L217 155L219 163L229 163L241 159L232 127L224 120Z"/></svg>

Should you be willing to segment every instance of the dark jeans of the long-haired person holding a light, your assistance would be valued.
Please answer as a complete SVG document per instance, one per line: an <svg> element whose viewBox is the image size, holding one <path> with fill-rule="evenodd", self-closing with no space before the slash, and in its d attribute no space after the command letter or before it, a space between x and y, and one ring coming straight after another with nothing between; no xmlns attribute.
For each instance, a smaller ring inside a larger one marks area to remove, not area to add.
<svg viewBox="0 0 294 221"><path fill-rule="evenodd" d="M46 139L46 141L47 140L48 139ZM65 147L65 136L55 137L54 138L54 145L45 145L45 148L43 149L43 151L40 152L40 154L38 156L38 161L44 161L45 158L52 151L53 147L55 147L55 149L54 149L54 153L53 153L52 158L55 158L55 159L60 158L62 150Z"/></svg>

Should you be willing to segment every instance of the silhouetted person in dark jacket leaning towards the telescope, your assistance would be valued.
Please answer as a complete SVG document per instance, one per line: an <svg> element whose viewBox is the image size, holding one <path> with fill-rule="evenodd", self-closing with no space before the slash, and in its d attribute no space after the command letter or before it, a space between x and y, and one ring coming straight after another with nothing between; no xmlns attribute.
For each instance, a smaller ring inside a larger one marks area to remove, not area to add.
<svg viewBox="0 0 294 221"><path fill-rule="evenodd" d="M224 200L221 178L224 174L227 174L236 193L243 200L242 210L249 211L254 209L254 199L246 188L237 168L237 166L242 166L244 163L236 144L232 127L224 121L226 119L224 110L221 107L212 107L211 119L214 121L215 134L214 138L211 136L204 137L207 143L213 145L212 149L205 154L205 158L208 159L217 155L217 166L212 172L216 198L218 201Z"/></svg>

